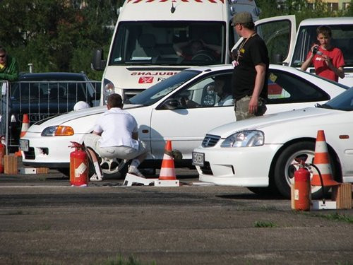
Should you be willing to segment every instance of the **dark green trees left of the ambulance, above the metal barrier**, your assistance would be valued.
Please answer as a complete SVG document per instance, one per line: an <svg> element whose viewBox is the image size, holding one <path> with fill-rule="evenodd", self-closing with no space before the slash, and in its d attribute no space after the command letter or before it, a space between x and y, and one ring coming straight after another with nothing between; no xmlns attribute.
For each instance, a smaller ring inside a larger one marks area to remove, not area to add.
<svg viewBox="0 0 353 265"><path fill-rule="evenodd" d="M100 80L102 73L90 69L92 51L107 49L117 18L119 0L3 0L0 2L0 43L18 60L20 71L33 64L40 71L84 71Z"/></svg>

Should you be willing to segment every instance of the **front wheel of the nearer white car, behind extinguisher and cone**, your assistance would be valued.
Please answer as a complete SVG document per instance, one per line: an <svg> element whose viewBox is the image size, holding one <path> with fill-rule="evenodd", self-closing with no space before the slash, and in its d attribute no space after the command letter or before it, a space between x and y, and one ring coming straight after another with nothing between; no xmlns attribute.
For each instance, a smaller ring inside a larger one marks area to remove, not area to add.
<svg viewBox="0 0 353 265"><path fill-rule="evenodd" d="M275 185L278 192L290 198L290 185L294 183L294 172L299 169L299 165L295 158L300 158L304 160L305 163L313 163L313 157L315 154L315 143L311 141L304 141L300 143L294 143L283 150L280 156L277 158L275 163ZM332 158L330 158L331 161ZM333 166L333 173L336 171ZM313 172L313 167L308 167L310 172ZM312 173L311 173L312 177ZM328 192L329 188L325 188L324 192ZM318 199L322 197L321 187L312 186L311 187L311 198Z"/></svg>

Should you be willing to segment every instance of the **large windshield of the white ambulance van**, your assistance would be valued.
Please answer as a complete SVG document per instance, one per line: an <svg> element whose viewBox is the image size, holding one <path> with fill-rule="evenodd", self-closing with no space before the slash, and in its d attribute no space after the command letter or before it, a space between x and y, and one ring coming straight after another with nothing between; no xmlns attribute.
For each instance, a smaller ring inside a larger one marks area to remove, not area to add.
<svg viewBox="0 0 353 265"><path fill-rule="evenodd" d="M109 65L225 64L225 28L208 21L122 22Z"/></svg>

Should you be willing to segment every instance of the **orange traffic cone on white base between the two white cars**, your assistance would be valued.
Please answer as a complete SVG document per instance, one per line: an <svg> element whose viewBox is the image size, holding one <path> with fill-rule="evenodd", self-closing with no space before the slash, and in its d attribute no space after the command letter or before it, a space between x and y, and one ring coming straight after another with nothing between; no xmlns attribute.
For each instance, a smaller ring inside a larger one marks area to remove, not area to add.
<svg viewBox="0 0 353 265"><path fill-rule="evenodd" d="M172 141L167 140L164 148L160 178L155 181L159 187L179 187L179 179L175 176L174 158L172 154Z"/></svg>

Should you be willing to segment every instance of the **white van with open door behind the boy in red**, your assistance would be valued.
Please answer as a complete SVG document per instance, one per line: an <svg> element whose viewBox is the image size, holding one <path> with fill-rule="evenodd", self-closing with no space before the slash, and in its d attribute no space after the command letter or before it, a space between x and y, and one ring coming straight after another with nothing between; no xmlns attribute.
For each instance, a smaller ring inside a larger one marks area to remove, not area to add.
<svg viewBox="0 0 353 265"><path fill-rule="evenodd" d="M265 18L256 21L255 25L266 42L270 61L296 68L300 68L316 42L316 28L328 25L332 30L332 45L340 48L345 58L345 78L339 78L338 82L353 86L353 17L310 18L301 21L298 30L295 16ZM307 71L315 73L313 67Z"/></svg>

